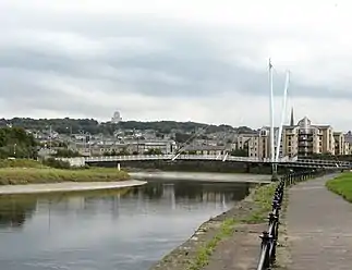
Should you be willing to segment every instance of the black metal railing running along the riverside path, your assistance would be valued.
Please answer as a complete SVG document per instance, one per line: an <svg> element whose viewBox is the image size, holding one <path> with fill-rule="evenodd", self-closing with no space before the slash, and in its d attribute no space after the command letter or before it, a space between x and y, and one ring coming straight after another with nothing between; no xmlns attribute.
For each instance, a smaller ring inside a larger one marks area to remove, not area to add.
<svg viewBox="0 0 352 270"><path fill-rule="evenodd" d="M298 182L305 181L326 173L326 170L308 170L304 172L289 173L280 177L272 198L272 210L269 213L269 226L260 235L262 250L257 270L268 270L276 261L276 248L279 236L280 210L282 206L284 188Z"/></svg>

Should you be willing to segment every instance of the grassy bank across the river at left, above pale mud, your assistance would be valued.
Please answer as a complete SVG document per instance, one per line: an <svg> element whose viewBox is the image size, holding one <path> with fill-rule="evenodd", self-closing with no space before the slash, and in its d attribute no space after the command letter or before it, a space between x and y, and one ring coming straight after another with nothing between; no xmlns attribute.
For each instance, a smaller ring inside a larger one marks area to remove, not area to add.
<svg viewBox="0 0 352 270"><path fill-rule="evenodd" d="M1 160L0 185L59 182L112 182L129 180L124 171L110 168L54 169L34 160Z"/></svg>

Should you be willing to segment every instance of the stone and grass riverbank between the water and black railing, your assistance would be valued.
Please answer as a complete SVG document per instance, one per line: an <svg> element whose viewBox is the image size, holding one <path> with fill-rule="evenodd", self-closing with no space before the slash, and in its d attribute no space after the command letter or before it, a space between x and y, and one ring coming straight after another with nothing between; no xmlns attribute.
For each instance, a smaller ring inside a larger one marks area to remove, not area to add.
<svg viewBox="0 0 352 270"><path fill-rule="evenodd" d="M267 226L275 187L257 186L232 209L203 223L189 241L150 270L251 269L258 259L258 235Z"/></svg>

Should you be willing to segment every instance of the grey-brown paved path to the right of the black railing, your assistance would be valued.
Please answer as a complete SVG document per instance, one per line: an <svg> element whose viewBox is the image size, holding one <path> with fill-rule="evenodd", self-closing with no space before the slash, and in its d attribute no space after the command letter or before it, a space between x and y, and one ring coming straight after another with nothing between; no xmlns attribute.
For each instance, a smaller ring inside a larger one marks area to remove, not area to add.
<svg viewBox="0 0 352 270"><path fill-rule="evenodd" d="M352 204L325 187L326 175L290 188L289 270L352 269Z"/></svg>

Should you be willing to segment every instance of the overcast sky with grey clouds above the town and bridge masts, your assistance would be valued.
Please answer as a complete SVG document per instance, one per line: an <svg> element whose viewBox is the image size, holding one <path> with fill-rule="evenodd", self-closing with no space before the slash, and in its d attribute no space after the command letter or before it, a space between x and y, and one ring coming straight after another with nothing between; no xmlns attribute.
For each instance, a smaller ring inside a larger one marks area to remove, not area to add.
<svg viewBox="0 0 352 270"><path fill-rule="evenodd" d="M349 131L350 2L0 0L0 114L259 127L271 58L277 124L289 69L288 112Z"/></svg>

